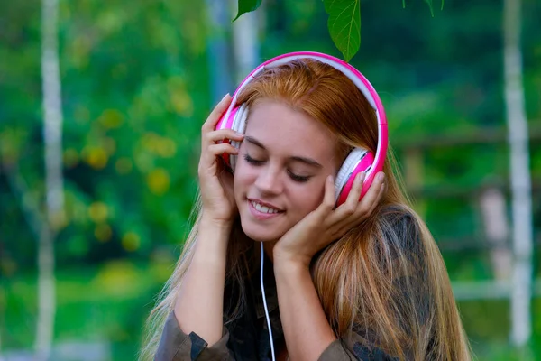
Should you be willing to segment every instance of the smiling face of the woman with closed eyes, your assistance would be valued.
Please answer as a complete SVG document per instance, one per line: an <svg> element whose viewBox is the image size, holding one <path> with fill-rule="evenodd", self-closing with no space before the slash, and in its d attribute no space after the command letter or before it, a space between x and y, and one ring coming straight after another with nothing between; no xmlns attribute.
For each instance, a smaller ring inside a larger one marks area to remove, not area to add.
<svg viewBox="0 0 541 361"><path fill-rule="evenodd" d="M234 198L244 233L277 241L323 200L336 175L335 137L276 101L252 107L234 171Z"/></svg>

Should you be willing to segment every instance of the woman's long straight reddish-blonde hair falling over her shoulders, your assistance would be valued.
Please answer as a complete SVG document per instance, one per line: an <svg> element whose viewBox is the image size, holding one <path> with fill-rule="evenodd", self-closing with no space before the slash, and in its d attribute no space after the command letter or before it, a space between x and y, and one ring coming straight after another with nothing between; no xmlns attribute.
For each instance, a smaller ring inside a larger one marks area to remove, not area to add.
<svg viewBox="0 0 541 361"><path fill-rule="evenodd" d="M375 151L373 109L340 71L316 60L294 60L265 71L243 89L238 103L284 102L321 122L336 135L341 159L355 146ZM353 331L368 347L414 360L470 360L470 349L454 301L445 263L425 223L410 208L392 151L384 165L386 193L360 227L317 254L311 264L316 292L338 338ZM147 322L140 360L151 360L165 319L188 270L197 242L201 205L182 255ZM244 284L257 265L253 242L235 222L227 250L226 287L238 299L225 322L243 313ZM347 272L344 272L347 270Z"/></svg>

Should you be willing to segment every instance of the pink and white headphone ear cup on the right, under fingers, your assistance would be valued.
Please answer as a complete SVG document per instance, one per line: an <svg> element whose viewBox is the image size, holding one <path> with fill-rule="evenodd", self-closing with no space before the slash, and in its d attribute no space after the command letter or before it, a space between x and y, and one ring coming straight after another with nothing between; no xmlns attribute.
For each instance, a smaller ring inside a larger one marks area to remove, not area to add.
<svg viewBox="0 0 541 361"><path fill-rule="evenodd" d="M342 163L338 174L336 175L336 207L345 202L350 190L352 190L353 180L355 180L357 174L361 173L362 171L366 172L365 181L362 185L362 196L364 195L364 192L370 186L367 180L369 179L369 172L371 171L373 162L374 155L364 148L355 148L348 154L344 163Z"/></svg>

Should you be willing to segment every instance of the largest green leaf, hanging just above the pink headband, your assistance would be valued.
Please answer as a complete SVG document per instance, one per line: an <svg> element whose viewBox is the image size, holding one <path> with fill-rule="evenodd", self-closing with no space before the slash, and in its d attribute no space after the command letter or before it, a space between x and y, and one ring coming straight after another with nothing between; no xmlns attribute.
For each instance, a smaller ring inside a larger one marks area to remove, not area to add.
<svg viewBox="0 0 541 361"><path fill-rule="evenodd" d="M336 48L349 61L361 45L360 0L323 0L329 14L327 26Z"/></svg>

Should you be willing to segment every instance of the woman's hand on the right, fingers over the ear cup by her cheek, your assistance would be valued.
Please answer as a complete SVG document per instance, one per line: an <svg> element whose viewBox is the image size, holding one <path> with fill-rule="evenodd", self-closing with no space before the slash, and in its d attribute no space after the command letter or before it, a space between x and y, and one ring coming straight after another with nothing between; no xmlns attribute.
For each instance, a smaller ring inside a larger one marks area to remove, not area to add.
<svg viewBox="0 0 541 361"><path fill-rule="evenodd" d="M335 208L333 177L327 177L321 205L291 227L274 245L272 254L275 267L280 263L307 267L317 251L344 236L371 215L385 188L384 174L380 172L374 177L370 189L359 201L364 177L364 173L356 176L346 201L338 208Z"/></svg>

